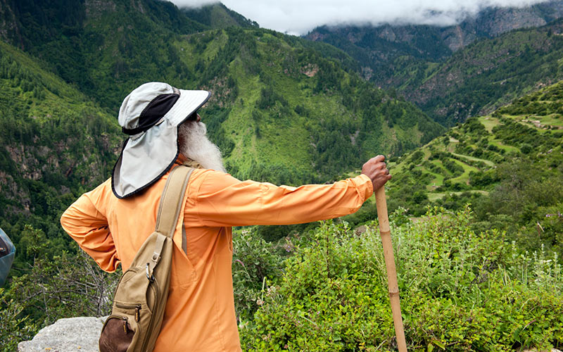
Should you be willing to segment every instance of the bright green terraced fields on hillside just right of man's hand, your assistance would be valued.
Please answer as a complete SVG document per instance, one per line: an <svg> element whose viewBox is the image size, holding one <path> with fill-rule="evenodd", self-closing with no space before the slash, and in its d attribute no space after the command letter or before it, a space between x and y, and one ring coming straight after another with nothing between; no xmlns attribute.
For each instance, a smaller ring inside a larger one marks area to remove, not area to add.
<svg viewBox="0 0 563 352"><path fill-rule="evenodd" d="M529 159L555 172L563 164L562 104L559 82L491 115L470 118L398 158L393 188L411 185L413 198L436 201L448 194L488 194L498 184L498 166L514 160Z"/></svg>

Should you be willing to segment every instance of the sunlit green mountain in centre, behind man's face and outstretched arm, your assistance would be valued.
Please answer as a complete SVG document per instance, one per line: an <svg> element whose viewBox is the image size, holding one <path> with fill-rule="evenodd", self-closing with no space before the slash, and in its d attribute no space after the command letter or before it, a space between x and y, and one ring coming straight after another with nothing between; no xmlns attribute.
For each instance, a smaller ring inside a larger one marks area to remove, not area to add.
<svg viewBox="0 0 563 352"><path fill-rule="evenodd" d="M203 120L241 178L327 180L374 153L398 155L441 133L410 103L339 63L267 30L229 29L179 39L186 66L213 91Z"/></svg>

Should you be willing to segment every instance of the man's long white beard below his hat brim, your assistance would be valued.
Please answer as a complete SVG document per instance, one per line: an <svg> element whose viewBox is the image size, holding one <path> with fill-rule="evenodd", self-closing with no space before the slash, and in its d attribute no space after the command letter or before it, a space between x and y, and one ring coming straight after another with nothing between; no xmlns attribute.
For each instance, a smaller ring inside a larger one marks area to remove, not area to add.
<svg viewBox="0 0 563 352"><path fill-rule="evenodd" d="M179 151L186 158L199 163L205 169L226 172L221 151L205 135L207 128L203 122L186 121L178 126L178 134L182 136Z"/></svg>

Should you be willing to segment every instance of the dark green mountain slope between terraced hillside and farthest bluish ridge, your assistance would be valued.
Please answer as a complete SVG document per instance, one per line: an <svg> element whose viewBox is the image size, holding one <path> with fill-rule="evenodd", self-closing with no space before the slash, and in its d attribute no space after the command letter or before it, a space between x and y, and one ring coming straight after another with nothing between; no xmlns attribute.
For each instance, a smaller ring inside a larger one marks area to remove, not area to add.
<svg viewBox="0 0 563 352"><path fill-rule="evenodd" d="M445 125L490 113L562 78L563 22L476 42L441 65L414 65L399 88Z"/></svg>

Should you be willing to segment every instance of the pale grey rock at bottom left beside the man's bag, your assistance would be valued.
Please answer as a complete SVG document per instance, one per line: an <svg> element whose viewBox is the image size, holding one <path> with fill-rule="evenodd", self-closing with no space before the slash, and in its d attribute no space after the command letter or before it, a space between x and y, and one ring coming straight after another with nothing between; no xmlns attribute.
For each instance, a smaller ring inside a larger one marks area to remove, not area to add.
<svg viewBox="0 0 563 352"><path fill-rule="evenodd" d="M57 320L31 341L18 344L18 352L98 352L98 339L106 318L81 317Z"/></svg>

